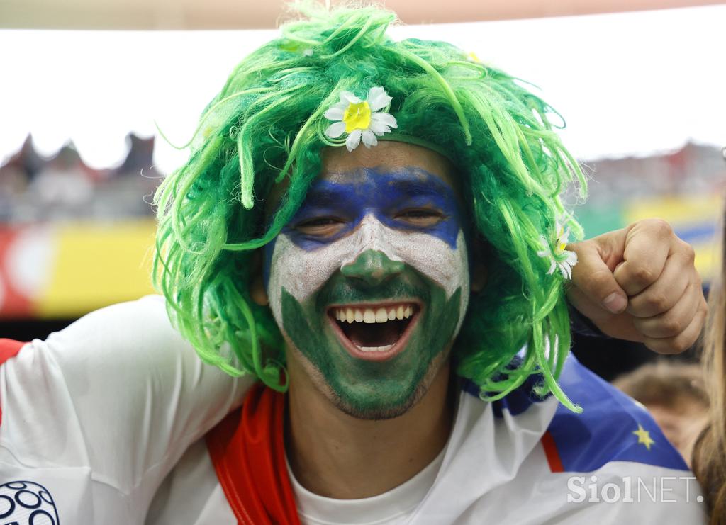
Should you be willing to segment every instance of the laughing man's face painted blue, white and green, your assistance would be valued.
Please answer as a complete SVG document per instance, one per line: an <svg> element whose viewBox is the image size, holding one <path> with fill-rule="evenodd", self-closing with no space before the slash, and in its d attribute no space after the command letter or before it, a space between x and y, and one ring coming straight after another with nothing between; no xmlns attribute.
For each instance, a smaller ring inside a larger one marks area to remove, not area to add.
<svg viewBox="0 0 726 525"><path fill-rule="evenodd" d="M351 416L401 416L439 372L468 305L453 170L431 150L392 142L324 159L325 175L266 246L288 371L294 354Z"/></svg>

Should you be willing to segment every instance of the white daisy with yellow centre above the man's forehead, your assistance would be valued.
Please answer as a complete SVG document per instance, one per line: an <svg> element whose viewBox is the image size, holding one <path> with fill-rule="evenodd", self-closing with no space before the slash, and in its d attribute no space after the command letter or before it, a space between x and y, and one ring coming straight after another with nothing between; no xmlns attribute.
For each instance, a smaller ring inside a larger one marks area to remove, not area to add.
<svg viewBox="0 0 726 525"><path fill-rule="evenodd" d="M340 102L328 109L323 115L328 120L335 120L325 130L330 139L338 139L348 133L346 148L352 152L363 141L367 148L378 144L376 136L391 133L397 128L396 118L386 113L391 97L380 86L370 88L365 100L359 99L350 91L340 94Z"/></svg>

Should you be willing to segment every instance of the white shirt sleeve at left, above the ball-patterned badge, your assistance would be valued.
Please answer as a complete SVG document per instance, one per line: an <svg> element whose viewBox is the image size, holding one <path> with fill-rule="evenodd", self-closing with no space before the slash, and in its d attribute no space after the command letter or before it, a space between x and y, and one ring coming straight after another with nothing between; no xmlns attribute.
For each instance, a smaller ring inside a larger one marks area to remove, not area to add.
<svg viewBox="0 0 726 525"><path fill-rule="evenodd" d="M94 516L65 523L141 522L184 450L252 383L204 364L161 297L86 315L0 367L0 500L4 480L22 475Z"/></svg>

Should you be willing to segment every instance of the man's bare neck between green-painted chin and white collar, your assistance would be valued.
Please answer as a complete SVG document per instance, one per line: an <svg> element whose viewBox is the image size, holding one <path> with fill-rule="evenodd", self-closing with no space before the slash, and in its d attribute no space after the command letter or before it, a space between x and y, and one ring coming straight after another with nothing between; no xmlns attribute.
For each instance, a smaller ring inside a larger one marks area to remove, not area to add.
<svg viewBox="0 0 726 525"><path fill-rule="evenodd" d="M419 473L446 445L453 422L449 361L421 400L397 418L370 421L335 407L290 363L287 460L311 492L340 500L382 494Z"/></svg>

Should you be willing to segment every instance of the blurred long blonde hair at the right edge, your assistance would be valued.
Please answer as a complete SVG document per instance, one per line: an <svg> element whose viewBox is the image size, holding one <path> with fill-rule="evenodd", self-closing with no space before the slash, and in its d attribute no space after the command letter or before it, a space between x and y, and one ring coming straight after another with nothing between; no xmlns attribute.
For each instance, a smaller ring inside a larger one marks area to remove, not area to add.
<svg viewBox="0 0 726 525"><path fill-rule="evenodd" d="M726 212L726 210L725 210ZM711 525L726 524L726 220L722 215L721 271L709 293L703 338L703 372L711 400L709 425L693 449L693 472L703 487Z"/></svg>

